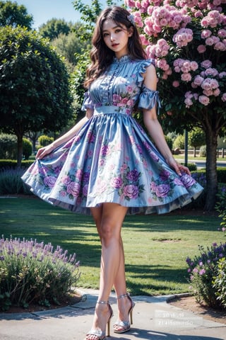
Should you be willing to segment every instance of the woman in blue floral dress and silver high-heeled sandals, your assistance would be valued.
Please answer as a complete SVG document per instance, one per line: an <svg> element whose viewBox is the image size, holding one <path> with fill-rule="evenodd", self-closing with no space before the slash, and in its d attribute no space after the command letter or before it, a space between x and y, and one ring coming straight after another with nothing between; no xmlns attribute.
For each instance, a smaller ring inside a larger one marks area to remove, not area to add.
<svg viewBox="0 0 226 340"><path fill-rule="evenodd" d="M133 17L125 8L102 11L93 35L85 86L85 117L51 145L39 149L23 180L42 199L91 213L102 244L100 293L85 340L105 339L117 294L114 332L130 329L134 303L126 293L121 225L126 213L163 213L196 198L202 188L172 157L157 120L157 77ZM143 120L155 146L132 118Z"/></svg>

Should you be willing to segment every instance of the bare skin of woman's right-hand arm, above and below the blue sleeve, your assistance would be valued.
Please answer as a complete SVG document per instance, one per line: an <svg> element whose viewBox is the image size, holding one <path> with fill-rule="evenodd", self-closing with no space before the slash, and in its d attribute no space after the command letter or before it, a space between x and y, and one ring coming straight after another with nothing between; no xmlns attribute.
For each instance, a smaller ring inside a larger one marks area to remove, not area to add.
<svg viewBox="0 0 226 340"><path fill-rule="evenodd" d="M157 76L155 72L155 67L150 65L147 67L144 76L144 84L145 86L153 91L156 91L157 87ZM190 174L189 169L182 164L178 164L174 157L172 156L172 152L170 151L167 142L165 140L164 133L162 131L162 127L157 120L157 113L155 106L150 110L143 109L143 122L145 127L147 128L150 136L153 138L157 149L160 151L162 156L167 161L167 164L171 166L177 174L181 175L182 171L186 172L186 174Z"/></svg>

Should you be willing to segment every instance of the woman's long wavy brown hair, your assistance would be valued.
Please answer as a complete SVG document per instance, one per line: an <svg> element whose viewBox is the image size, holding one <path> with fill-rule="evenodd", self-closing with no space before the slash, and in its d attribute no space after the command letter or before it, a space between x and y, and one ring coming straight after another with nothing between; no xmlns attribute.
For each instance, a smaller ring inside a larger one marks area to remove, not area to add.
<svg viewBox="0 0 226 340"><path fill-rule="evenodd" d="M133 27L133 35L129 37L128 42L129 55L133 60L146 59L138 30L135 24L129 20L129 16L129 11L119 6L107 7L100 13L93 33L93 48L90 52L91 64L86 71L85 87L88 88L97 77L103 74L114 58L114 52L107 47L102 34L103 24L107 19L111 19L119 26L126 26L127 30Z"/></svg>

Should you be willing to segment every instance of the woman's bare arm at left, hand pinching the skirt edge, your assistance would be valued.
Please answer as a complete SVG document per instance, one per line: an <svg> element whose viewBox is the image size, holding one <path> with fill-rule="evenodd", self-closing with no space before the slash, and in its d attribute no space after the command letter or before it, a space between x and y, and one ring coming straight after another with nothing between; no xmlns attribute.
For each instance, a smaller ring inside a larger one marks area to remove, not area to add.
<svg viewBox="0 0 226 340"><path fill-rule="evenodd" d="M92 117L92 115L93 109L88 108L85 117L79 120L79 122L76 125L74 125L73 128L71 128L71 130L66 132L61 137L57 138L57 140L54 140L54 142L47 145L47 147L42 147L41 149L39 149L36 154L36 159L42 159L44 156L52 152L52 150L71 140L71 138L78 133L78 131L83 127L83 125L85 125L85 123Z"/></svg>

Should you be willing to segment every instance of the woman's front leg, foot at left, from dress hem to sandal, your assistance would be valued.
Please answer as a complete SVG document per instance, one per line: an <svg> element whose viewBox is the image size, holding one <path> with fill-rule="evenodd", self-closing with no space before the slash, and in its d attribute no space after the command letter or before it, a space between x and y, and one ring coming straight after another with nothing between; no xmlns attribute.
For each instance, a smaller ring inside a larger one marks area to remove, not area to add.
<svg viewBox="0 0 226 340"><path fill-rule="evenodd" d="M120 268L121 225L126 211L126 207L115 203L103 203L100 208L91 208L102 244L98 301L108 300ZM92 329L105 331L108 319L109 307L105 304L97 304ZM86 339L96 340L97 336L89 334Z"/></svg>

